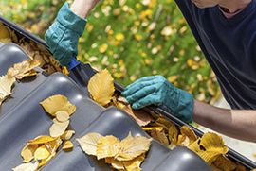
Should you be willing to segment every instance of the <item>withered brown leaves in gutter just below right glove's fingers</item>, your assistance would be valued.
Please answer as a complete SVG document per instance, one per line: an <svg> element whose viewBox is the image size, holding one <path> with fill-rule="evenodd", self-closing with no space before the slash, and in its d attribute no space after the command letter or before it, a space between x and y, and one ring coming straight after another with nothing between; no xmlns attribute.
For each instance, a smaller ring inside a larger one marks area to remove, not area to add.
<svg viewBox="0 0 256 171"><path fill-rule="evenodd" d="M135 111L132 109L131 105L126 101L124 97L119 96L115 100L113 99L114 105L120 110L126 111L129 115L131 115L139 126L146 126L153 121L153 117L145 112L145 111Z"/></svg>

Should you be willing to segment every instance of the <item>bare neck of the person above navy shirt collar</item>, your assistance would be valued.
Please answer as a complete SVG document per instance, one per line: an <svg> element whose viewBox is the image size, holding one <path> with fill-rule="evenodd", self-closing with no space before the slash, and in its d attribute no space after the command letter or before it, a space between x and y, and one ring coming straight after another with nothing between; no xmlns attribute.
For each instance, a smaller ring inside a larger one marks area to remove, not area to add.
<svg viewBox="0 0 256 171"><path fill-rule="evenodd" d="M245 9L252 0L223 0L219 3L221 8L229 10L229 13L234 13L239 9Z"/></svg>

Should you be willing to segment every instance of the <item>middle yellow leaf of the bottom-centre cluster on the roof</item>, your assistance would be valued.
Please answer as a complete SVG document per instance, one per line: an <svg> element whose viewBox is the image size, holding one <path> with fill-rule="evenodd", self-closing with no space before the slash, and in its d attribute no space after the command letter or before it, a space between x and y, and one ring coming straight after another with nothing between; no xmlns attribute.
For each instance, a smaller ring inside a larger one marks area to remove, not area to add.
<svg viewBox="0 0 256 171"><path fill-rule="evenodd" d="M109 135L101 137L97 143L97 159L115 157L120 150L119 139Z"/></svg>

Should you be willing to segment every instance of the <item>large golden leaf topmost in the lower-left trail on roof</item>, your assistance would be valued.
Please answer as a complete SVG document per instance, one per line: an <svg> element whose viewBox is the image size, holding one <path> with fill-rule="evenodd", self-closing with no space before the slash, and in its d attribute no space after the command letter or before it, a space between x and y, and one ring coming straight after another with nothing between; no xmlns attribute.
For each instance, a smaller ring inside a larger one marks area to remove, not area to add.
<svg viewBox="0 0 256 171"><path fill-rule="evenodd" d="M68 99L61 94L46 98L40 103L51 116L55 117L57 111L66 111L69 115L76 111L76 106L71 104Z"/></svg>

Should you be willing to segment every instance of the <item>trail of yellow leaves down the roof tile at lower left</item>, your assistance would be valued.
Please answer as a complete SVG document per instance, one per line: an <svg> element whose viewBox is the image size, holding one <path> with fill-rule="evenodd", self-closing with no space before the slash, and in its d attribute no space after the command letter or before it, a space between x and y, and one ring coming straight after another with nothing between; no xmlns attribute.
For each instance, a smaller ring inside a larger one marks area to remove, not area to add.
<svg viewBox="0 0 256 171"><path fill-rule="evenodd" d="M40 104L53 119L49 135L41 135L27 142L21 151L24 163L13 168L14 171L29 168L36 170L44 166L56 155L60 145L63 145L65 151L73 149L70 139L75 131L66 129L69 126L70 116L76 111L76 106L61 94L50 96Z"/></svg>

